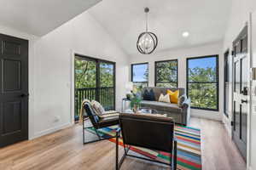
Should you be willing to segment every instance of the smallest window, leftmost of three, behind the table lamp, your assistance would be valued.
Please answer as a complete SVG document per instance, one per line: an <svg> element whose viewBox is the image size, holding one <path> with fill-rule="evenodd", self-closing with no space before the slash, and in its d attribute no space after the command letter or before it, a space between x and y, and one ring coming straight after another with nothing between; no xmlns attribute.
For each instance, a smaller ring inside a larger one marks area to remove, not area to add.
<svg viewBox="0 0 256 170"><path fill-rule="evenodd" d="M148 87L148 63L131 65L131 82L135 91Z"/></svg>

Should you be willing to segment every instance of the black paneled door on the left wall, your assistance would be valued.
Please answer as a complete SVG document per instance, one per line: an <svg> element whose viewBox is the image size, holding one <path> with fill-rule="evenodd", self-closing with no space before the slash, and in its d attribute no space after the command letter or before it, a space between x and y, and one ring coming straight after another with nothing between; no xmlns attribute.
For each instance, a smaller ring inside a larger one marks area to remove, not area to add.
<svg viewBox="0 0 256 170"><path fill-rule="evenodd" d="M0 34L0 147L28 139L28 41Z"/></svg>

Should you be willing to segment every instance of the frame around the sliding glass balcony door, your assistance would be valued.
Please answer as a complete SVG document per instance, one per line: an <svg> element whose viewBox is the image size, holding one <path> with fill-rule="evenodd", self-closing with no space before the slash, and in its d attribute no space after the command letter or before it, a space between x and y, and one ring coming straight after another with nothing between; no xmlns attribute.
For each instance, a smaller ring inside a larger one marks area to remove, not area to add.
<svg viewBox="0 0 256 170"><path fill-rule="evenodd" d="M74 120L74 115L75 115L75 72L74 72L74 63L75 63L75 59L76 57L79 56L81 58L85 58L85 59L91 59L91 60L96 60L96 66L98 66L98 62L102 61L102 62L106 62L106 63L111 63L113 64L113 93L114 93L114 96L113 96L113 105L114 105L114 109L116 108L116 63L114 61L111 61L111 60L106 60L106 59L100 59L100 58L96 58L96 57L90 57L88 55L84 55L84 54L81 54L81 53L77 53L75 51L72 51L72 60L71 60L71 123L75 123L75 120ZM98 77L97 77L98 78ZM98 83L99 80L96 80L96 83ZM98 86L98 85L97 85Z"/></svg>

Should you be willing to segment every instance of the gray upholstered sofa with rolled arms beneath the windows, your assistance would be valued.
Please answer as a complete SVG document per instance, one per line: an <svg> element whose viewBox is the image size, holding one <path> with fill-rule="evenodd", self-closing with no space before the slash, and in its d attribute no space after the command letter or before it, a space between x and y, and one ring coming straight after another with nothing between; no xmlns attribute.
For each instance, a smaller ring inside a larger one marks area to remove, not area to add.
<svg viewBox="0 0 256 170"><path fill-rule="evenodd" d="M143 88L142 98L144 91L148 89L148 92L153 89L154 91L154 101L143 100L141 107L147 107L158 111L159 114L166 114L174 119L175 122L187 125L190 118L190 99L186 97L185 88ZM159 102L158 99L160 94L166 94L166 90L171 89L176 91L179 89L179 96L185 96L183 102L180 105L173 103Z"/></svg>

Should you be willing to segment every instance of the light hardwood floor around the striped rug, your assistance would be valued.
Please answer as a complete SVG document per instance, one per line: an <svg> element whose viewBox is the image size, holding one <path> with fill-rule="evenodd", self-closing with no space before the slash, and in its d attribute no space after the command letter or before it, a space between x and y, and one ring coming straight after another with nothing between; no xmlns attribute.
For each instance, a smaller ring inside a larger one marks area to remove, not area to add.
<svg viewBox="0 0 256 170"><path fill-rule="evenodd" d="M205 170L245 170L246 165L220 122L191 118L201 128ZM0 170L114 169L115 145L107 140L82 144L82 129L74 125L56 133L0 149ZM120 153L123 150L120 148ZM159 164L126 158L121 169L168 169Z"/></svg>

